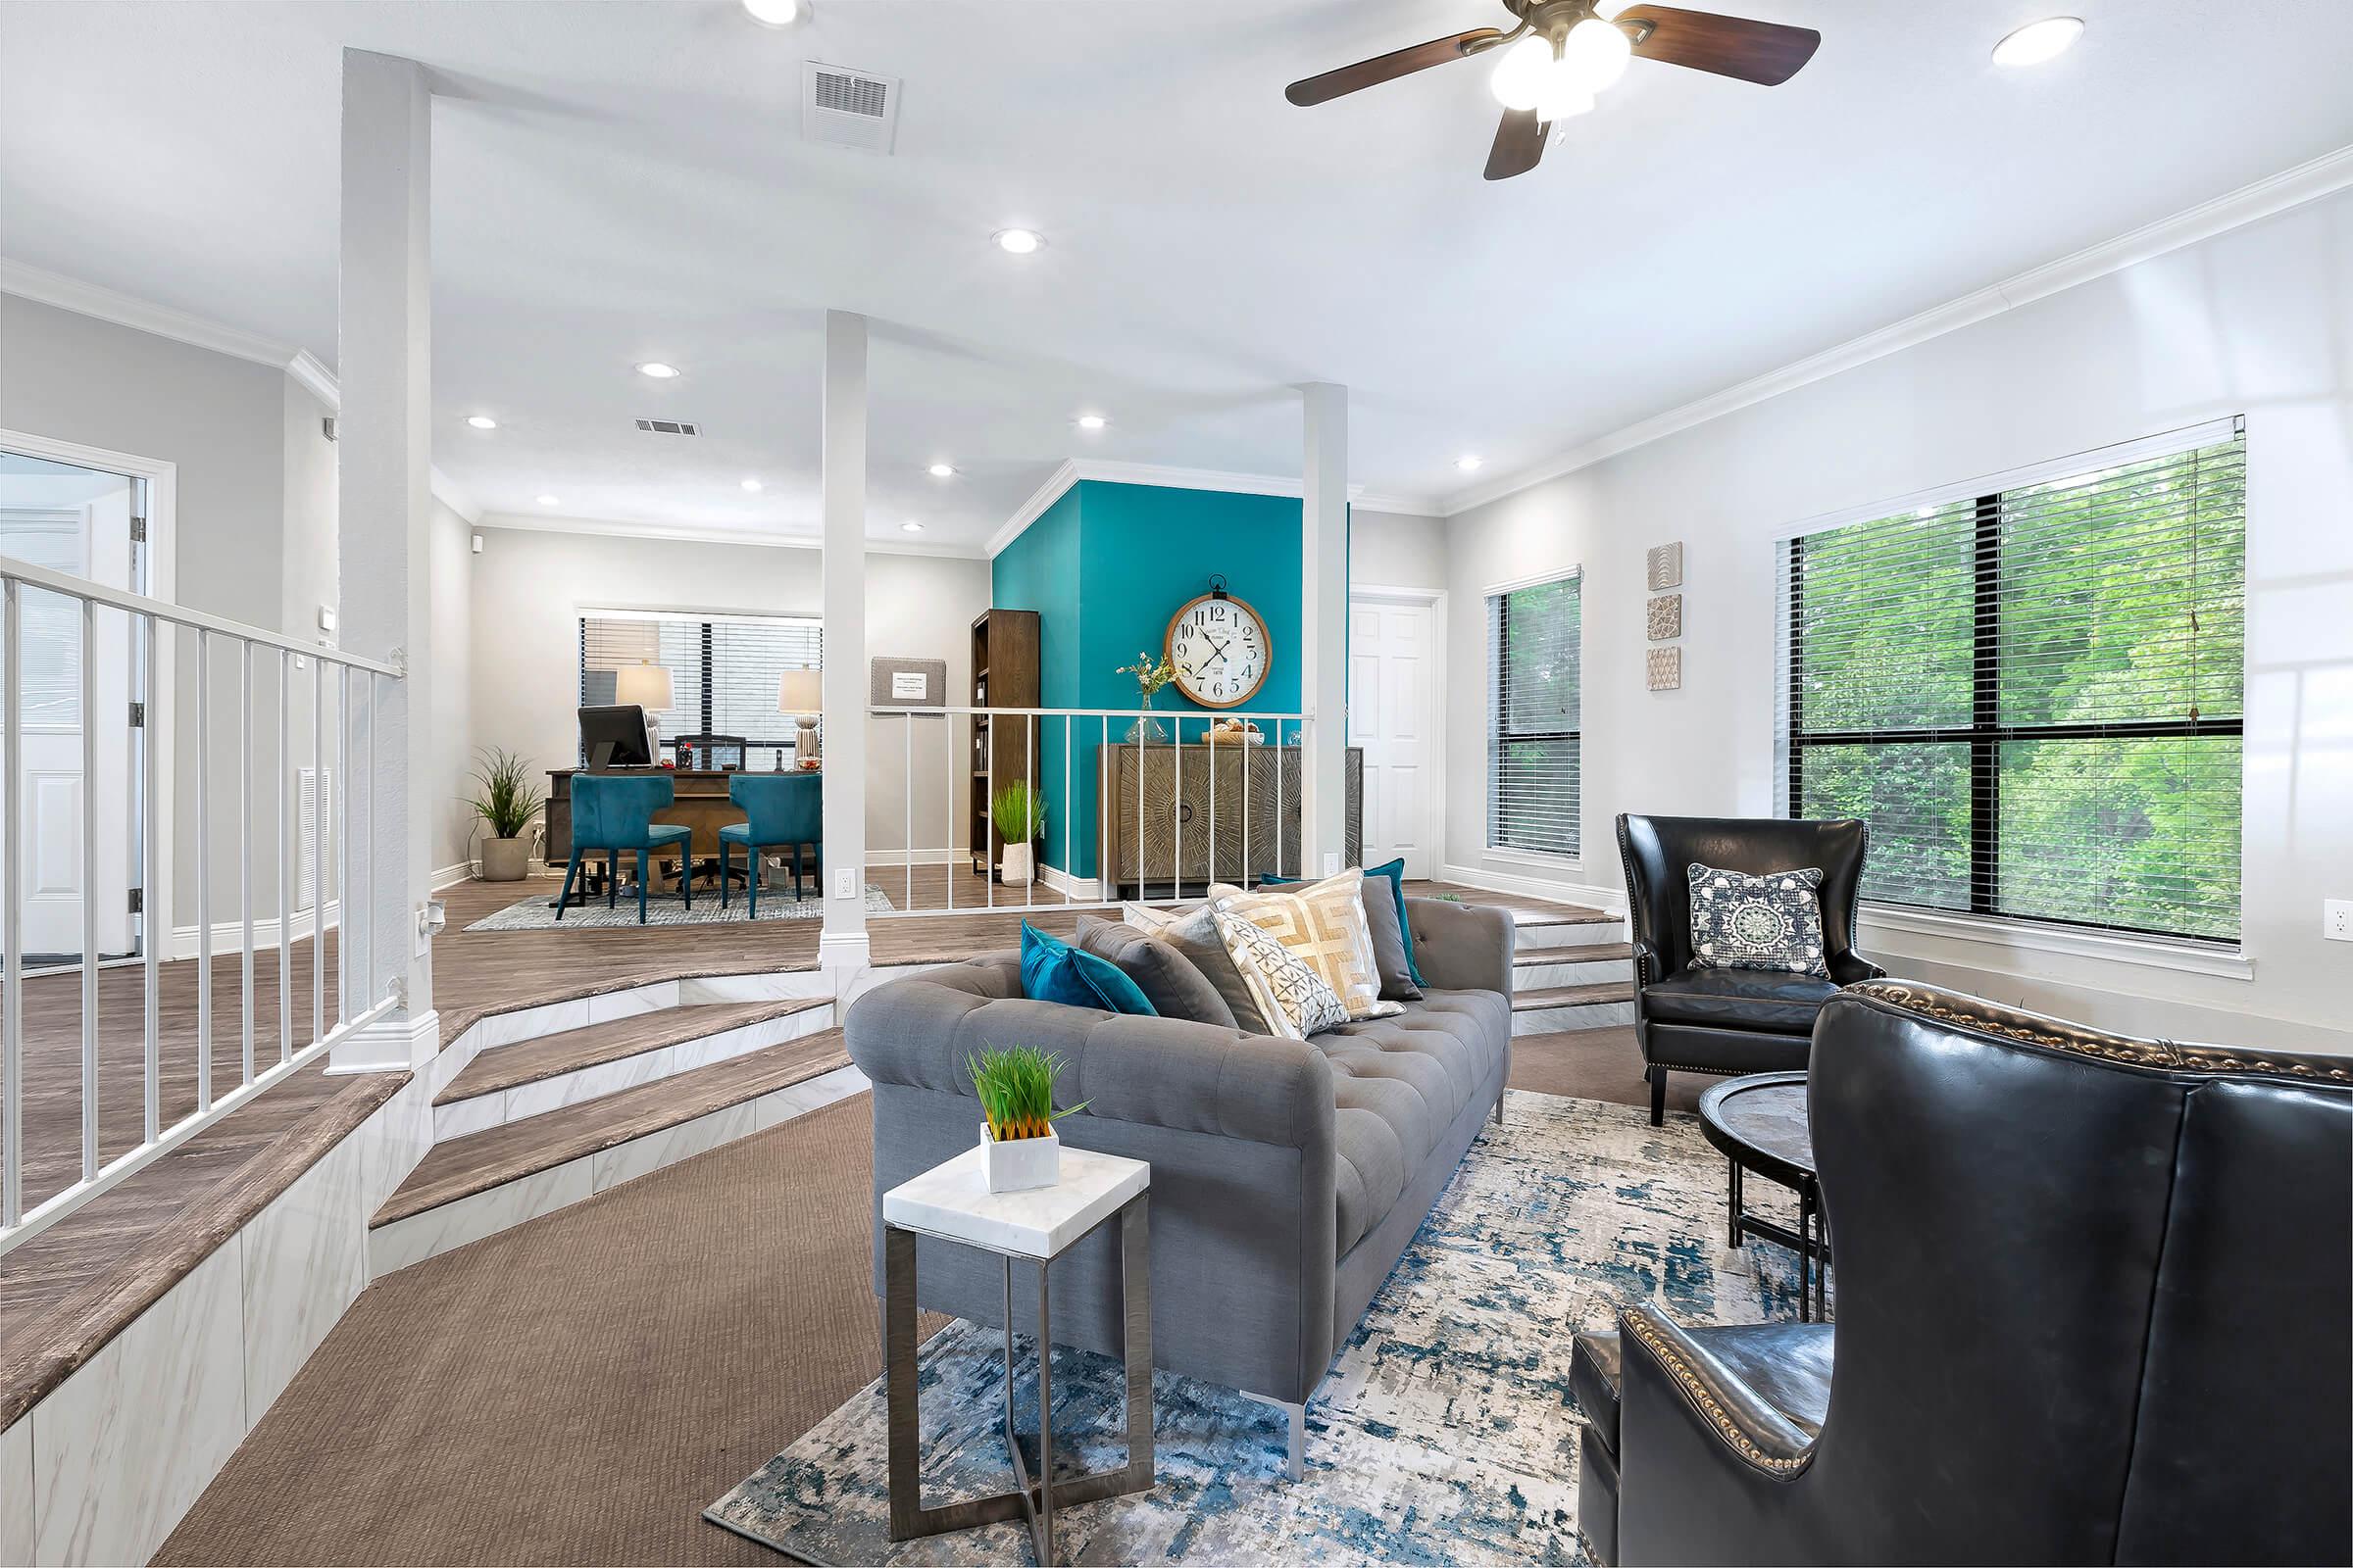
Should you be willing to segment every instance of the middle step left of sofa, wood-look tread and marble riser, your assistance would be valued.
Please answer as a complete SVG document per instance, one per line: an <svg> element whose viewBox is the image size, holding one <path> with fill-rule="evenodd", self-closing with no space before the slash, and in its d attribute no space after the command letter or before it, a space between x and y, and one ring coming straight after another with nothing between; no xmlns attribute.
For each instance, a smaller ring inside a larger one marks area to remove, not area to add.
<svg viewBox="0 0 2353 1568"><path fill-rule="evenodd" d="M654 1009L492 1046L433 1095L433 1138L461 1138L565 1105L814 1034L826 997Z"/></svg>

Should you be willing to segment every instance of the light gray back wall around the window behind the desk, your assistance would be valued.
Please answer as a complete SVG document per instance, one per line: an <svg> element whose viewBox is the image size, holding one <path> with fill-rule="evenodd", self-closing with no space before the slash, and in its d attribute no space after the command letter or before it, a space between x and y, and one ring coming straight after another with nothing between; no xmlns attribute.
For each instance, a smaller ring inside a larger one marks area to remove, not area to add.
<svg viewBox="0 0 2353 1568"><path fill-rule="evenodd" d="M581 609L704 609L748 616L819 614L819 552L602 534L548 534L485 517L473 559L473 745L504 745L539 769L579 757ZM438 585L438 583L435 583ZM969 625L988 607L988 562L866 557L866 628L875 654L946 658L951 701L969 701ZM438 611L435 611L438 614ZM868 743L866 844L906 844L906 722L880 719ZM915 726L915 844L946 823L944 726ZM955 820L962 842L962 823Z"/></svg>

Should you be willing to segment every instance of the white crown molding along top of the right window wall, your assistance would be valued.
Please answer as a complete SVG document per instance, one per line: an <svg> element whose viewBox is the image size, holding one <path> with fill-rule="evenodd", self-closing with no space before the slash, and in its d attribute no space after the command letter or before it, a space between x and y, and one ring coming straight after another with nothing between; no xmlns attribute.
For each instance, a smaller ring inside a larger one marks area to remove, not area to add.
<svg viewBox="0 0 2353 1568"><path fill-rule="evenodd" d="M1442 515L1457 517L1475 505L1487 505L1489 501L1501 501L1529 484L1544 484L1546 480L1558 480L1562 475L1577 473L1579 468L1591 468L1602 458L1614 458L1621 451L1633 451L1661 437L1704 425L1711 418L1722 418L1739 409L1760 404L1781 393L1795 393L1814 381L1826 381L1840 371L1849 371L1859 364L1871 364L1873 360L1885 360L1887 355L1901 353L1929 339L1941 339L1948 331L1960 331L1962 327L1974 327L1988 317L2002 315L2005 310L2017 310L2019 306L2031 306L2038 299L2049 299L2075 284L2120 273L2127 266L2141 261L2153 261L2167 252L2177 252L2184 244L2198 244L2200 240L2212 240L2214 235L2242 228L2247 223L2259 223L2273 214L2287 212L2289 207L2301 207L2304 202L2332 195L2353 186L2353 148L2337 148L2334 153L2322 153L2308 162L2292 169L2282 169L2268 179L2259 179L2252 186L2240 186L2212 202L2200 202L2172 216L2158 219L2155 223L2144 223L2129 233L2113 240L2089 244L2057 261L2045 261L2042 266L2028 268L2002 282L1974 289L1960 299L1946 301L1918 315L1908 315L1901 322L1880 327L1878 331L1866 331L1859 339L1847 339L1835 348L1826 348L1819 355L1809 355L1793 364L1784 364L1777 371L1755 376L1753 381L1741 381L1722 393L1711 393L1697 402L1687 402L1666 414L1654 414L1652 418L1635 421L1624 430L1614 430L1598 440L1572 447L1551 458L1518 468L1497 480L1466 487L1445 498Z"/></svg>

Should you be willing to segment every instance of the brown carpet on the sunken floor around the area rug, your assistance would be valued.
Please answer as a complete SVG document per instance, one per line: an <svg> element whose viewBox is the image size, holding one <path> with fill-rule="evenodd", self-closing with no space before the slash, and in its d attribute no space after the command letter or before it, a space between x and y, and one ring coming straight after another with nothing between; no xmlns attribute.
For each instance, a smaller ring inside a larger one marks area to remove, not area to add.
<svg viewBox="0 0 2353 1568"><path fill-rule="evenodd" d="M1511 1084L1649 1105L1633 1030ZM774 1568L701 1507L880 1371L871 1180L856 1095L388 1276L155 1561Z"/></svg>

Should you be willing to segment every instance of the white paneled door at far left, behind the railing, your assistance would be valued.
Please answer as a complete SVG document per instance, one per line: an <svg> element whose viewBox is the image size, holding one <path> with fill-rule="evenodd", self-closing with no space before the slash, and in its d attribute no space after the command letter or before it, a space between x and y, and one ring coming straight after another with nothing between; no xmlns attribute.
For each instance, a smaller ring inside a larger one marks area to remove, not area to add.
<svg viewBox="0 0 2353 1568"><path fill-rule="evenodd" d="M132 588L136 484L122 475L0 454L0 555ZM24 952L26 964L73 964L82 952L82 900L96 898L99 957L132 945L129 889L136 849L129 733L132 625L96 611L82 646L80 604L24 590ZM96 663L96 712L82 712L82 661ZM96 776L82 778L82 726L96 731ZM96 886L82 877L82 813L96 813ZM5 870L5 867L0 867Z"/></svg>

